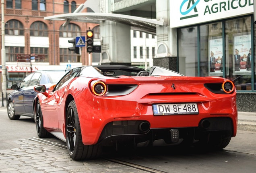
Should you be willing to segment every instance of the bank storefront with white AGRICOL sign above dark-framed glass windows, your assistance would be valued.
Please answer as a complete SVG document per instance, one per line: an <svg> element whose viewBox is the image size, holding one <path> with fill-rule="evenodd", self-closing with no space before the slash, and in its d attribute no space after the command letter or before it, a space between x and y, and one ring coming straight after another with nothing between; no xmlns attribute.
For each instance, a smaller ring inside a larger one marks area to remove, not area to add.
<svg viewBox="0 0 256 173"><path fill-rule="evenodd" d="M183 0L170 5L178 69L188 76L235 82L238 111L256 112L253 0Z"/></svg>

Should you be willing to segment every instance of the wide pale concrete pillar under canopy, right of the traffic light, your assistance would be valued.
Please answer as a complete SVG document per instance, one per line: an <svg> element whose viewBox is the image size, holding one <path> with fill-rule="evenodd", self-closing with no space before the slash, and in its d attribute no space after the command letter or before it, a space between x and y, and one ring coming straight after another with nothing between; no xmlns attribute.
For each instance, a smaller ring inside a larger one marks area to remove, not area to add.
<svg viewBox="0 0 256 173"><path fill-rule="evenodd" d="M100 22L101 64L131 65L130 26L112 21Z"/></svg>

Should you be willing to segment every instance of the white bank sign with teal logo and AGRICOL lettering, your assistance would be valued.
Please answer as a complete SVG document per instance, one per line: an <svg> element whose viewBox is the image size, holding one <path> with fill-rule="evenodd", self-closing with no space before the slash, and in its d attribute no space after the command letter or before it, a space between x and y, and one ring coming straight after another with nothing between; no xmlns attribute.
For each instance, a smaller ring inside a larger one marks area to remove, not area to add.
<svg viewBox="0 0 256 173"><path fill-rule="evenodd" d="M170 27L252 14L254 0L170 0Z"/></svg>

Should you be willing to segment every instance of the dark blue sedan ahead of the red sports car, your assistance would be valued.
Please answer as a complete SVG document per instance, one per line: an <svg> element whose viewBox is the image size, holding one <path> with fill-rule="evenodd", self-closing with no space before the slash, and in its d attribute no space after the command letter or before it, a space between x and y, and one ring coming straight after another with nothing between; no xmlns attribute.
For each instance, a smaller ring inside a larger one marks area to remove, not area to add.
<svg viewBox="0 0 256 173"><path fill-rule="evenodd" d="M37 92L34 87L44 84L52 90L55 84L66 74L65 70L40 70L27 75L19 84L13 84L14 89L8 96L7 113L11 120L17 120L21 115L35 119L33 107Z"/></svg>

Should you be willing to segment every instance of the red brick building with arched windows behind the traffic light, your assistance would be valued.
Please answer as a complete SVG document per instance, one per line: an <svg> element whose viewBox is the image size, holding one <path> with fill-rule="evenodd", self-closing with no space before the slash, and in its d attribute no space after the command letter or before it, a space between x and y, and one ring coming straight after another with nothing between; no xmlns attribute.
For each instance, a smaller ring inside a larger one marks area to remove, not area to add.
<svg viewBox="0 0 256 173"><path fill-rule="evenodd" d="M89 64L90 60L85 48L81 49L81 55L75 54L68 50L68 47L72 47L68 40L83 36L89 28L94 29L98 25L70 22L64 27L62 24L65 21L44 20L45 16L72 13L84 2L84 0L4 0L6 56L0 55L0 60L2 62L2 58L6 59L6 89L10 89L12 84L19 83L31 71L65 69L67 64L69 66L71 64L71 67ZM83 12L87 12L87 9ZM97 31L99 32L99 29L95 29L95 35L99 36ZM35 59L35 62L19 59L24 55L36 57L40 55L43 58Z"/></svg>

